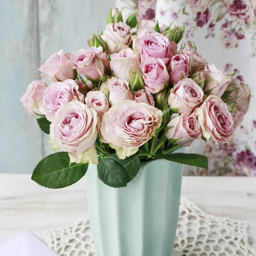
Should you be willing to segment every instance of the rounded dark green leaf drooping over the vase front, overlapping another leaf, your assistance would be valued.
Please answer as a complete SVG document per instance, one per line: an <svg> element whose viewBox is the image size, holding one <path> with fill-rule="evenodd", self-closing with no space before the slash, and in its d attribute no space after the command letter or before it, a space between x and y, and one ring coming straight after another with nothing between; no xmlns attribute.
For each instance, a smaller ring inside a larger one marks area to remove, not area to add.
<svg viewBox="0 0 256 256"><path fill-rule="evenodd" d="M121 188L127 186L128 175L125 169L108 157L99 157L98 177L108 186Z"/></svg>

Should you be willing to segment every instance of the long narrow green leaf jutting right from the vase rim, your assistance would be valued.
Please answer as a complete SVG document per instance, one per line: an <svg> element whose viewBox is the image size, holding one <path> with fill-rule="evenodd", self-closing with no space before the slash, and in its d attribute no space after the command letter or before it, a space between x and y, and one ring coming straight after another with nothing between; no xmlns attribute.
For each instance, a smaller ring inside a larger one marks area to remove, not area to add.
<svg viewBox="0 0 256 256"><path fill-rule="evenodd" d="M208 170L208 158L201 154L186 154L186 153L173 153L173 154L155 154L153 157L158 159L166 159L175 163L186 164L189 166L197 166Z"/></svg>

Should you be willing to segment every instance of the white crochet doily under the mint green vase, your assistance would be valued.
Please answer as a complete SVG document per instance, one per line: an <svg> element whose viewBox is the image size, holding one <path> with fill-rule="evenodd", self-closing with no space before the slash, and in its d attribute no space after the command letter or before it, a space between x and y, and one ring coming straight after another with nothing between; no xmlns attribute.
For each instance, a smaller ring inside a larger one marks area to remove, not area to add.
<svg viewBox="0 0 256 256"><path fill-rule="evenodd" d="M46 242L60 256L96 256L90 221L49 230ZM203 212L181 198L173 256L256 256L248 243L247 224Z"/></svg>

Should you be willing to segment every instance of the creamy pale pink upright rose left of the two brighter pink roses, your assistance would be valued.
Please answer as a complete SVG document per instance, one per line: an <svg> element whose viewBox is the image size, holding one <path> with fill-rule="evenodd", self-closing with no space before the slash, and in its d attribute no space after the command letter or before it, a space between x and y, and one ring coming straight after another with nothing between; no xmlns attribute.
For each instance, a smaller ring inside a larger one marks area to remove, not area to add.
<svg viewBox="0 0 256 256"><path fill-rule="evenodd" d="M131 81L131 76L140 70L140 54L131 48L122 49L111 55L111 70L118 79Z"/></svg>

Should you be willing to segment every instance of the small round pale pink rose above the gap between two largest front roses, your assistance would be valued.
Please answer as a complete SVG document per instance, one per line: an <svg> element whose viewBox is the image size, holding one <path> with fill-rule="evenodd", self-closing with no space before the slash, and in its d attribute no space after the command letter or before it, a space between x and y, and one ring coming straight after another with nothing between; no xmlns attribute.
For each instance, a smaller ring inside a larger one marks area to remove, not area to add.
<svg viewBox="0 0 256 256"><path fill-rule="evenodd" d="M85 98L85 104L88 108L93 108L100 117L102 117L108 110L108 99L101 91L90 91Z"/></svg>

